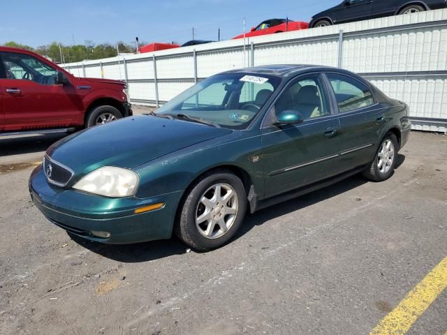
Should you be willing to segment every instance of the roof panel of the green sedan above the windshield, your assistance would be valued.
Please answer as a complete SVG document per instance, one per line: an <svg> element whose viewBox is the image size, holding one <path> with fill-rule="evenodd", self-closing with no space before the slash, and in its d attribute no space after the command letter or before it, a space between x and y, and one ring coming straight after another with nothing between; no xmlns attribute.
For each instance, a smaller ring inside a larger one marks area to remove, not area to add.
<svg viewBox="0 0 447 335"><path fill-rule="evenodd" d="M332 68L330 66L309 65L309 64L275 64L255 66L253 68L240 68L237 70L229 70L224 73L256 73L259 75L276 75L278 77L288 77L289 75L297 75L298 73L305 73L309 70L337 70L337 72L344 72L339 68Z"/></svg>

